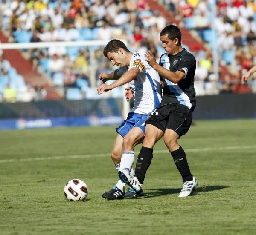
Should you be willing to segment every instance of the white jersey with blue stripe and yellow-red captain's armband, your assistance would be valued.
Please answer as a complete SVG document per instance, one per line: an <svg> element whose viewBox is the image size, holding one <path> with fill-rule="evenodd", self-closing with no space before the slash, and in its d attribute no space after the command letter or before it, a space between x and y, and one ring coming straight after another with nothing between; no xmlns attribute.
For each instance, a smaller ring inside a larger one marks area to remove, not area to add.
<svg viewBox="0 0 256 235"><path fill-rule="evenodd" d="M160 77L147 61L145 56L134 52L131 57L130 66L127 68L119 68L116 73L122 76L131 68L140 69L137 77L131 81L130 86L134 92L134 106L131 112L139 114L147 114L156 109L162 99L162 86Z"/></svg>

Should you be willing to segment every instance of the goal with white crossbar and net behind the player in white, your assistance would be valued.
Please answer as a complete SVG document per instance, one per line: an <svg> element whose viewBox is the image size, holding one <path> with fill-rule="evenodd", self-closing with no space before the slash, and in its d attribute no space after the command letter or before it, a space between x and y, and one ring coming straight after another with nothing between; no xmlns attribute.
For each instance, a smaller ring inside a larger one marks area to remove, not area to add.
<svg viewBox="0 0 256 235"><path fill-rule="evenodd" d="M116 69L103 55L107 43L0 43L0 129L121 123L125 86L96 89L99 74Z"/></svg>

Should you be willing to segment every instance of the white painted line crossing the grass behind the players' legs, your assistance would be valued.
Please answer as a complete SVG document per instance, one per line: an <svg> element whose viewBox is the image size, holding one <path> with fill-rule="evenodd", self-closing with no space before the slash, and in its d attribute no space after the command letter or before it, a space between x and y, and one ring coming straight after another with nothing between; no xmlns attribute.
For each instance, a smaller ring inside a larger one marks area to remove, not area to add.
<svg viewBox="0 0 256 235"><path fill-rule="evenodd" d="M229 147L216 147L216 148L197 148L197 149L185 149L186 152L209 152L209 151L225 151L225 150L236 150L236 149L256 149L256 145L248 146L229 146ZM155 150L154 154L169 153L168 149ZM135 152L139 154L139 152ZM0 163L10 162L29 162L29 161L45 161L45 160L60 160L60 159L76 159L76 158L94 158L94 157L110 157L110 153L96 153L96 154L85 154L85 155L70 155L70 156L55 156L55 157L41 157L41 158L20 158L20 159L2 159Z"/></svg>

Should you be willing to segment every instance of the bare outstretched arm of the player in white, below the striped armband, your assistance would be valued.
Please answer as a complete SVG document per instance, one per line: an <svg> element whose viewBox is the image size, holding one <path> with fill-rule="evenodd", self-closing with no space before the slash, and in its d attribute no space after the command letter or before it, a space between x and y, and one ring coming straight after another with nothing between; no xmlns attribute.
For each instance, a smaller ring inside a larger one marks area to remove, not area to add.
<svg viewBox="0 0 256 235"><path fill-rule="evenodd" d="M116 80L115 82L113 82L110 85L105 85L102 84L100 85L97 90L98 90L98 94L102 94L102 92L107 92L110 91L118 86L122 86L128 82L130 82L131 80L133 80L134 78L136 78L136 76L140 73L140 69L133 67L131 68L128 72L126 72L125 74L123 74L118 80Z"/></svg>

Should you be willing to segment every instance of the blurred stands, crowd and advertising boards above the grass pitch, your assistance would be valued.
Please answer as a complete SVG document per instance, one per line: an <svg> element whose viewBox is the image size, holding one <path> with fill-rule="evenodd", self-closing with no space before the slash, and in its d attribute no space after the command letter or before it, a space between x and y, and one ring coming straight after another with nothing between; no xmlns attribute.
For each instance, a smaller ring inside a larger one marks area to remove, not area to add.
<svg viewBox="0 0 256 235"><path fill-rule="evenodd" d="M119 39L159 59L168 24L197 60L194 118L256 117L256 75L240 82L256 64L255 0L0 0L0 129L122 122L124 87L96 91L116 69L102 50Z"/></svg>

